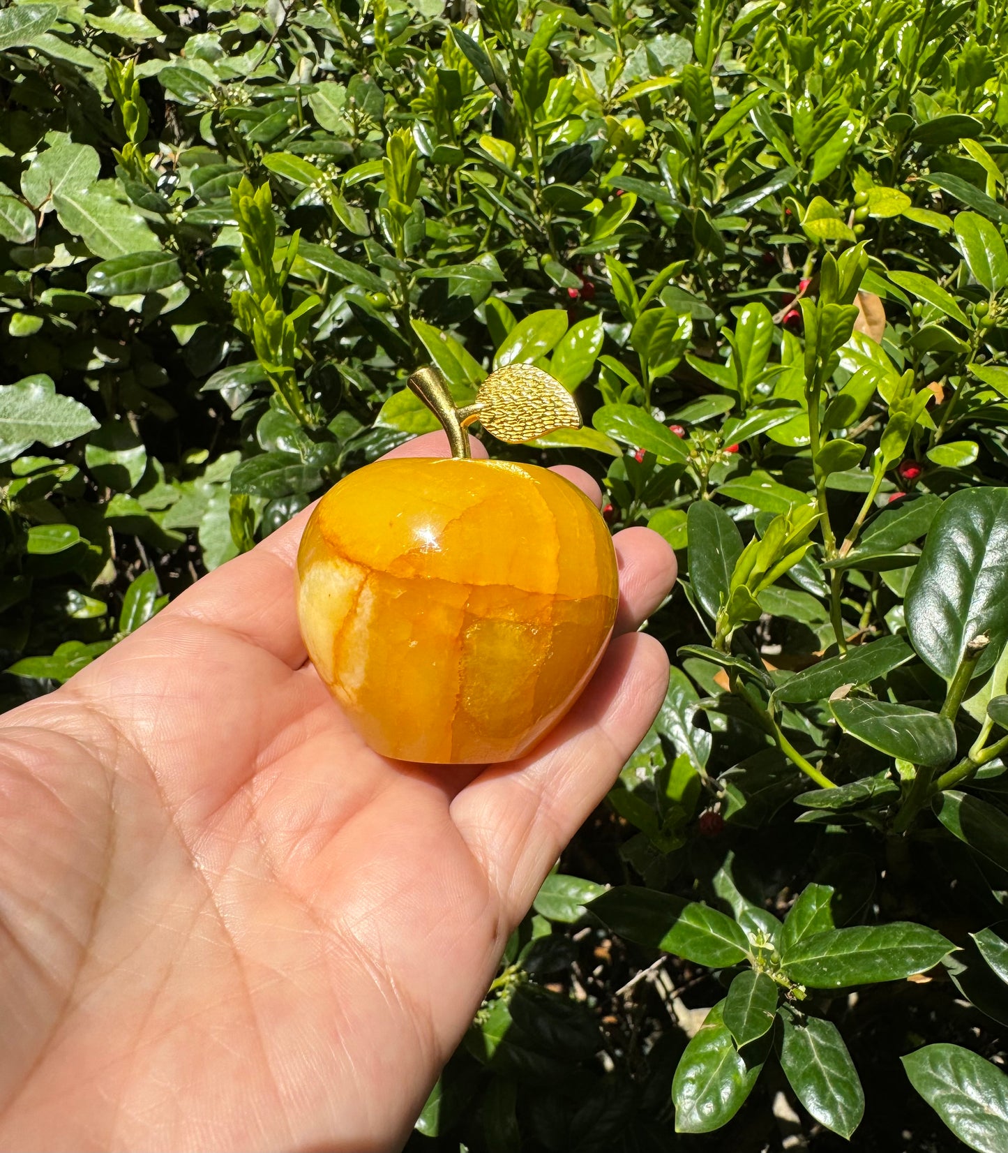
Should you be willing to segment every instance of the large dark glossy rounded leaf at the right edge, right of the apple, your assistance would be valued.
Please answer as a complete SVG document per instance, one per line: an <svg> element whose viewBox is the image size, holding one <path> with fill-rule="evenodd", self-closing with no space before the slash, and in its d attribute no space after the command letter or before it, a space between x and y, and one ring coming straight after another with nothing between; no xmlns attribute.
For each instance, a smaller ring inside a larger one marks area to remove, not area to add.
<svg viewBox="0 0 1008 1153"><path fill-rule="evenodd" d="M986 634L976 676L1008 640L1008 489L954 492L934 518L904 602L907 628L927 665L950 680L973 638Z"/></svg>

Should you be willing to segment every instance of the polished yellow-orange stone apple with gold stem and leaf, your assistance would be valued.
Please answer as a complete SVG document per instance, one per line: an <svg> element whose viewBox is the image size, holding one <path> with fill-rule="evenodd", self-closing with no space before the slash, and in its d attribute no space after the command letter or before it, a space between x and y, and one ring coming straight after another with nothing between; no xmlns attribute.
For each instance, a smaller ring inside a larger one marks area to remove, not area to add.
<svg viewBox="0 0 1008 1153"><path fill-rule="evenodd" d="M562 385L531 366L492 374L468 409L453 407L430 369L410 386L445 423L454 455L377 461L323 497L297 557L302 635L374 752L514 760L594 671L616 615L616 558L578 488L535 465L470 459L464 425L478 419L502 439L532 439L579 417ZM536 400L544 390L553 407Z"/></svg>

